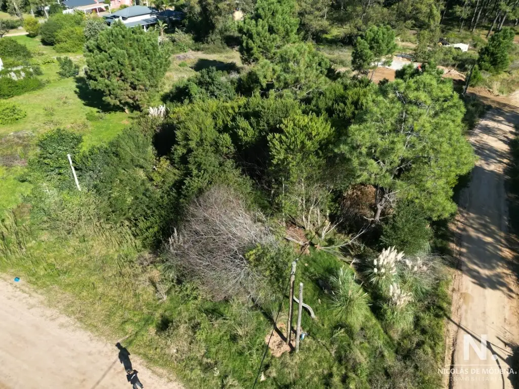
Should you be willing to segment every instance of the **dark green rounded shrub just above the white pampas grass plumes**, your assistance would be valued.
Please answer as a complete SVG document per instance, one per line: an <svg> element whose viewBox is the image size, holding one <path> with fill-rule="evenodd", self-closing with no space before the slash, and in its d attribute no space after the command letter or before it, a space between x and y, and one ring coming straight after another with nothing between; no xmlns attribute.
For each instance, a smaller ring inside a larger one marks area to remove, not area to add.
<svg viewBox="0 0 519 389"><path fill-rule="evenodd" d="M413 255L423 251L431 238L424 212L414 203L402 202L384 226L381 242L385 247L395 246L406 255Z"/></svg>

